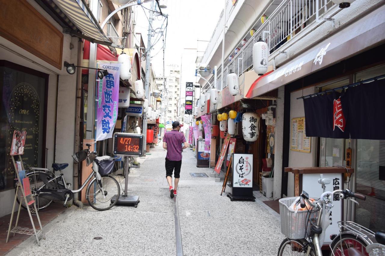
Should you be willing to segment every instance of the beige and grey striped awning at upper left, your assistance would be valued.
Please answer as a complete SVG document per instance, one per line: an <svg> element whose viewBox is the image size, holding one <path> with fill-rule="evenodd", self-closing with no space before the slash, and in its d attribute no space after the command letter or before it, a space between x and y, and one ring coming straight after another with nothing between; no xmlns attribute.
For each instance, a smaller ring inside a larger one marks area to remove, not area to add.
<svg viewBox="0 0 385 256"><path fill-rule="evenodd" d="M120 45L112 43L105 36L94 15L92 15L87 5L83 2L84 0L49 0L49 2L50 1L53 1L81 31L80 34L73 30L70 32L71 34L93 43L122 48Z"/></svg>

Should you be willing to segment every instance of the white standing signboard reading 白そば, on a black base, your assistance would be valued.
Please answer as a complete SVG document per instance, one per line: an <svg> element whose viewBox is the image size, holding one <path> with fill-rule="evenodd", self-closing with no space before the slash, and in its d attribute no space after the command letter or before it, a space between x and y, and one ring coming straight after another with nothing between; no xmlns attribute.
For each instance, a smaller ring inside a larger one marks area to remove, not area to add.
<svg viewBox="0 0 385 256"><path fill-rule="evenodd" d="M253 154L233 154L233 187L253 187Z"/></svg>

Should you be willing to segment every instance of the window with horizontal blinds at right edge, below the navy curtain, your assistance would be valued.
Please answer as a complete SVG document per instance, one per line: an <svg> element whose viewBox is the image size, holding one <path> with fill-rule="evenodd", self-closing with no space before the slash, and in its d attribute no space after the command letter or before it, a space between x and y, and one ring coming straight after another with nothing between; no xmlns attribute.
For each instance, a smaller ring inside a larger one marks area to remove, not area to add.
<svg viewBox="0 0 385 256"><path fill-rule="evenodd" d="M357 183L385 190L385 140L357 140Z"/></svg>

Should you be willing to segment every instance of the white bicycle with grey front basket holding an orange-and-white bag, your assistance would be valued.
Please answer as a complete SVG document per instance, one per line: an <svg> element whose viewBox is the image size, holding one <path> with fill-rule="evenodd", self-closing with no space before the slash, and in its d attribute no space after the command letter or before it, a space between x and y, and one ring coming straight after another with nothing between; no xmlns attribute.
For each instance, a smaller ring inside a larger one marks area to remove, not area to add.
<svg viewBox="0 0 385 256"><path fill-rule="evenodd" d="M352 198L366 199L364 195L353 193L350 190L326 191L326 184L330 184L330 179L323 178L323 175L320 176L318 183L323 188L320 198L309 198L309 195L302 191L299 198L290 197L279 200L281 232L287 238L282 241L278 249L278 256L322 256L321 247L325 241L325 231L330 225L329 218L334 195L338 195L340 199L352 201L355 201ZM293 203L294 209L292 208ZM301 209L298 209L298 204Z"/></svg>

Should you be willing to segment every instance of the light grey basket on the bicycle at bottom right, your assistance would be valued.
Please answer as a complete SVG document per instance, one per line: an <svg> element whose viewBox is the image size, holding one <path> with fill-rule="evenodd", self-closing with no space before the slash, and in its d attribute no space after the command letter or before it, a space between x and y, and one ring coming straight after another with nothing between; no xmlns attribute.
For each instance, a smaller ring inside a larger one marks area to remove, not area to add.
<svg viewBox="0 0 385 256"><path fill-rule="evenodd" d="M312 197L314 198L314 197ZM318 199L318 198L315 198ZM296 213L289 207L298 200L298 196L281 198L280 202L280 216L281 216L281 232L290 239L303 239L306 233L310 236L310 219L318 217L316 212L318 209L300 211Z"/></svg>

